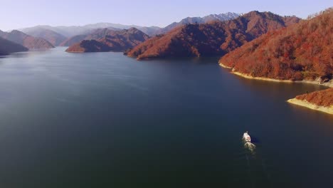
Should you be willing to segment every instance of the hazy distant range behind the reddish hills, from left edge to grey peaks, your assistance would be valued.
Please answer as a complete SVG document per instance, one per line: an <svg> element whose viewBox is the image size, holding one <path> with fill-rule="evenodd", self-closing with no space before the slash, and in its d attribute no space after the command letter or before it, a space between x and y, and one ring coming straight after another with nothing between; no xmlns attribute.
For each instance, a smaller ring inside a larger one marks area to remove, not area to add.
<svg viewBox="0 0 333 188"><path fill-rule="evenodd" d="M53 48L54 46L72 46L83 40L93 39L90 36L100 28L108 28L113 31L121 31L122 29L137 28L146 33L148 36L155 36L159 33L165 33L177 26L183 26L189 23L205 23L213 20L234 19L239 14L211 14L204 17L188 17L179 22L171 23L165 28L157 26L135 26L123 25L120 23L93 23L85 26L33 26L30 28L21 28L10 32L0 32L2 38L21 44L29 49Z"/></svg>

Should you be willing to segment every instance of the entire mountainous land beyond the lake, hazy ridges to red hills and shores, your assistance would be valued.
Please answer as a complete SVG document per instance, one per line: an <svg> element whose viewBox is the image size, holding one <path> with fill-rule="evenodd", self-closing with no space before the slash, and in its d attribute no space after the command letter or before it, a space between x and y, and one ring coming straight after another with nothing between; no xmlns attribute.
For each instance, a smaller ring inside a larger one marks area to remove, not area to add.
<svg viewBox="0 0 333 188"><path fill-rule="evenodd" d="M188 17L165 28L95 23L21 31L0 31L0 55L70 46L67 52L125 51L138 60L222 56L221 66L245 78L333 87L332 8L307 20L250 11ZM327 89L288 102L333 114L332 96Z"/></svg>

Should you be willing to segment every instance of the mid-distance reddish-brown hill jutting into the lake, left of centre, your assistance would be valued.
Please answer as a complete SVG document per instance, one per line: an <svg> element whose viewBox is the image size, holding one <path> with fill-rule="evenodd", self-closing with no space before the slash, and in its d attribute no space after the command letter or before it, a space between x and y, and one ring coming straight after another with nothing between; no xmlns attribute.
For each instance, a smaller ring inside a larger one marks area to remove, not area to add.
<svg viewBox="0 0 333 188"><path fill-rule="evenodd" d="M80 43L70 46L67 52L125 51L146 41L149 36L137 28L112 31L107 28L97 29Z"/></svg>

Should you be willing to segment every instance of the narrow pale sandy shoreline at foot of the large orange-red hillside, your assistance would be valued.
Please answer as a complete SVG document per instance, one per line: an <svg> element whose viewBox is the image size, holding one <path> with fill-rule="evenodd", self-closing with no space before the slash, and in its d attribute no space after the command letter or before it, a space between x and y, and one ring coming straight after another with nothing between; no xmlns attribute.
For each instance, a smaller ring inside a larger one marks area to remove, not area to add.
<svg viewBox="0 0 333 188"><path fill-rule="evenodd" d="M233 69L231 67L224 66L222 63L219 63L219 64L223 68ZM329 88L333 88L333 81L332 80L330 80L328 83L319 83L318 81L315 81L315 80L279 80L279 79L275 79L275 78L255 77L255 76L252 76L252 75L239 73L239 72L236 72L236 71L233 71L233 70L231 71L231 73L239 75L243 78L252 79L252 80L265 80L265 81L278 82L278 83L311 83L311 84L324 85L324 86L327 86Z"/></svg>

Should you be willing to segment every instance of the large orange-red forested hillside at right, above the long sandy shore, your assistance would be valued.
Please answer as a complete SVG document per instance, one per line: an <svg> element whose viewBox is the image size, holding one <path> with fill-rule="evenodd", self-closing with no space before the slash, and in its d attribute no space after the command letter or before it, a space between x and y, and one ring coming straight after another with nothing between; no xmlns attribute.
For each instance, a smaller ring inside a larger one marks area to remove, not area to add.
<svg viewBox="0 0 333 188"><path fill-rule="evenodd" d="M327 83L333 75L333 9L269 32L220 60L234 72L278 80ZM332 84L333 85L333 84Z"/></svg>

